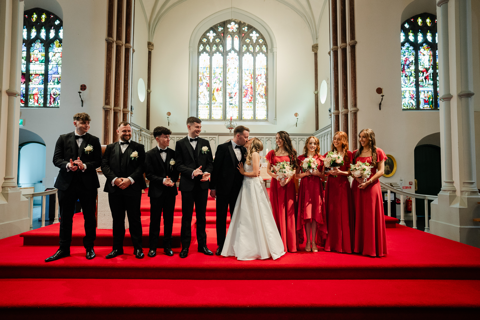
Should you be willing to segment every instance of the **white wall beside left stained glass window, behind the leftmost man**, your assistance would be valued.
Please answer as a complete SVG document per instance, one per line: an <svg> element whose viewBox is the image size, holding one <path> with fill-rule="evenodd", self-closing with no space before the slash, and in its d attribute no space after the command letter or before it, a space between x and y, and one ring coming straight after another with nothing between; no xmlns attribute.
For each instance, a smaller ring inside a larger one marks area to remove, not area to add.
<svg viewBox="0 0 480 320"><path fill-rule="evenodd" d="M25 1L28 4L28 0ZM47 147L43 183L53 187L58 168L53 166L55 143L60 134L72 132L73 115L86 112L92 118L90 133L101 139L104 98L106 0L58 0L63 11L62 82L59 108L22 108L24 129L43 138ZM53 11L53 13L57 13ZM81 107L80 85L84 107Z"/></svg>

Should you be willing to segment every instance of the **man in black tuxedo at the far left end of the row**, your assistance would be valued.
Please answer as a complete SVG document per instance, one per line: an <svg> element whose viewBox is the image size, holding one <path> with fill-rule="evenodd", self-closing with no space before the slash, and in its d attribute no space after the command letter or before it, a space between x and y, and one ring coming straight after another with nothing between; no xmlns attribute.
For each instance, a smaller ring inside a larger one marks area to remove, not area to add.
<svg viewBox="0 0 480 320"><path fill-rule="evenodd" d="M84 112L73 116L75 131L60 135L55 145L53 164L60 168L55 181L60 207L60 249L45 262L70 255L75 202L80 200L85 220L85 258L95 258L96 193L100 188L96 168L102 160L100 140L88 133L90 116Z"/></svg>

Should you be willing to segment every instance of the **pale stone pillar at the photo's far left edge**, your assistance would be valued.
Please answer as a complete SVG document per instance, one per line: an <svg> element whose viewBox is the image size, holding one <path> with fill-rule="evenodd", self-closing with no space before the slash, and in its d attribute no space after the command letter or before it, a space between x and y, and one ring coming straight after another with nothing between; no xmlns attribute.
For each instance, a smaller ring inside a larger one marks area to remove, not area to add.
<svg viewBox="0 0 480 320"><path fill-rule="evenodd" d="M20 82L18 81L18 75L20 70L18 67L20 59L20 39L21 24L23 24L23 7L24 2L19 0L11 0L12 2L12 34L11 34L11 47L10 47L10 82L9 88L6 90L8 95L8 111L7 111L7 140L5 149L5 177L2 183L2 193L9 193L12 191L20 192L15 179L14 167L17 168L15 163L18 158L18 119L17 115L17 96L20 95L18 88ZM20 10L22 9L22 10ZM18 107L18 108L17 108ZM7 196L8 197L8 196ZM8 201L8 200L7 200Z"/></svg>

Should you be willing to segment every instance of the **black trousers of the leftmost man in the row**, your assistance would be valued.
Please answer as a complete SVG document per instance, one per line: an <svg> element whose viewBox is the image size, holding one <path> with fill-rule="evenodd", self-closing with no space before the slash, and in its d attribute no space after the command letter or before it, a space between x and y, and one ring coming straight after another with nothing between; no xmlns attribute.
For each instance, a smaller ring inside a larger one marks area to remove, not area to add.
<svg viewBox="0 0 480 320"><path fill-rule="evenodd" d="M73 214L75 202L80 200L84 214L84 247L94 246L96 238L96 189L85 189L83 184L72 181L67 190L58 190L60 209L60 249L70 252L72 243Z"/></svg>

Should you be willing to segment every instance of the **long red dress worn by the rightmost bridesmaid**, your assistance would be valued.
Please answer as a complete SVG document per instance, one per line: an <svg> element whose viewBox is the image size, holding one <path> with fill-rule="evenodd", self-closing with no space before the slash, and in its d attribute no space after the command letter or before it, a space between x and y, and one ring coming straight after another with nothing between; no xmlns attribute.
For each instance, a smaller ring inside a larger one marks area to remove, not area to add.
<svg viewBox="0 0 480 320"><path fill-rule="evenodd" d="M355 154L357 151L354 151ZM384 151L377 148L377 162L386 160ZM372 166L372 157L357 157L358 161ZM377 168L372 168L373 177ZM387 252L385 233L384 201L378 179L365 189L358 188L357 180L352 182L352 201L355 213L355 252L369 256L384 256Z"/></svg>

